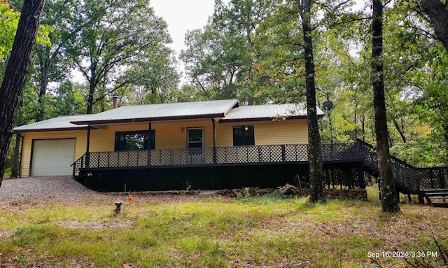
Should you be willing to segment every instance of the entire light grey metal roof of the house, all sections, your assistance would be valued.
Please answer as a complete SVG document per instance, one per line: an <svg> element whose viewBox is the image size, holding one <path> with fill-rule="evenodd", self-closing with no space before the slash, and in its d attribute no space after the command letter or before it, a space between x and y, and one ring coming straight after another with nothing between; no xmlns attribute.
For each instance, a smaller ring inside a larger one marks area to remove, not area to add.
<svg viewBox="0 0 448 268"><path fill-rule="evenodd" d="M317 115L325 113L317 108ZM29 125L15 127L15 133L87 129L88 125L120 122L151 122L158 120L183 120L218 118L218 122L299 119L307 117L304 104L268 104L238 106L237 99L220 101L177 102L123 106L95 115L70 115L52 118Z"/></svg>

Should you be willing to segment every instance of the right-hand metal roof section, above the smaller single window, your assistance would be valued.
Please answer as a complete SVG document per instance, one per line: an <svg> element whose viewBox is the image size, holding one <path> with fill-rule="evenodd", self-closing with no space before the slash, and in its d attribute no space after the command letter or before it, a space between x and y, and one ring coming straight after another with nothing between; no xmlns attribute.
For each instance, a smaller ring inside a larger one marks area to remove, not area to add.
<svg viewBox="0 0 448 268"><path fill-rule="evenodd" d="M317 108L317 115L322 116L325 113ZM245 120L274 120L306 118L307 108L304 104L267 104L267 105L251 105L240 106L230 110L223 118L219 118L219 122L238 122Z"/></svg>

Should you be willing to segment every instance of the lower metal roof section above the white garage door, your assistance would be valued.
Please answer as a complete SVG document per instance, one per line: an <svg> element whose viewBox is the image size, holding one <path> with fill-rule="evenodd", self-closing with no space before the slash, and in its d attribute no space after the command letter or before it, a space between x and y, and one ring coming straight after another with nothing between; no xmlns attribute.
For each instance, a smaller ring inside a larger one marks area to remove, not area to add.
<svg viewBox="0 0 448 268"><path fill-rule="evenodd" d="M29 125L22 125L14 128L14 133L22 132L45 132L55 130L73 130L73 129L87 129L87 125L74 125L71 123L73 120L82 120L87 118L88 115L68 115L60 116L59 118L52 118L35 122Z"/></svg>

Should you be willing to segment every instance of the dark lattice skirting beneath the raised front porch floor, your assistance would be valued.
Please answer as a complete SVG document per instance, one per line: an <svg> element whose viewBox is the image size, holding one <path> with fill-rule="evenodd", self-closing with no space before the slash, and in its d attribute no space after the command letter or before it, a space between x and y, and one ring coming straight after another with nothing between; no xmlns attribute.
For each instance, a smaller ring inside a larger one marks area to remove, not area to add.
<svg viewBox="0 0 448 268"><path fill-rule="evenodd" d="M300 183L299 183L300 180ZM99 192L277 188L289 183L309 188L308 164L215 167L83 169L78 181ZM362 163L324 164L325 188L365 188Z"/></svg>

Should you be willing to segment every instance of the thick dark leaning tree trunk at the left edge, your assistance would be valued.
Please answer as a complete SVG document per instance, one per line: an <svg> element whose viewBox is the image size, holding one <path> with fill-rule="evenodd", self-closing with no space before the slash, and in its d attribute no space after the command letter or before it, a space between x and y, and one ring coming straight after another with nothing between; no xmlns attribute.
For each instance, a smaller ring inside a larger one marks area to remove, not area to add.
<svg viewBox="0 0 448 268"><path fill-rule="evenodd" d="M25 0L0 87L0 185L45 0Z"/></svg>

